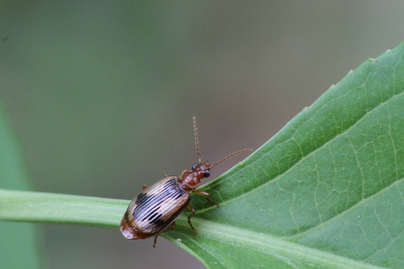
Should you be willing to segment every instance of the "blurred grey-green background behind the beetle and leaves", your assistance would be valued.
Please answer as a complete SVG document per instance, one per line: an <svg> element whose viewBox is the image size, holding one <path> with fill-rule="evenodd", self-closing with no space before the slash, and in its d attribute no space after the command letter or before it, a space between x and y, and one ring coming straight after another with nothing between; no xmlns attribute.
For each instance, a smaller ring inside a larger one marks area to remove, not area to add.
<svg viewBox="0 0 404 269"><path fill-rule="evenodd" d="M401 1L0 1L0 98L35 190L132 199L257 149L404 40ZM215 168L219 176L244 156ZM48 268L203 268L159 238L35 224Z"/></svg>

